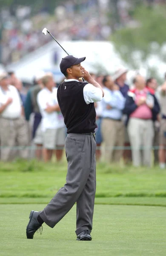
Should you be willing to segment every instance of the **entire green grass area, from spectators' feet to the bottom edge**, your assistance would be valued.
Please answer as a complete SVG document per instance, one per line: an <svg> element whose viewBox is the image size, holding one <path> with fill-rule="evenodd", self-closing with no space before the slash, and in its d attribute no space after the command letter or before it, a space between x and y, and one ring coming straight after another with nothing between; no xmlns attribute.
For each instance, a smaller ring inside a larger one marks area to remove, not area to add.
<svg viewBox="0 0 166 256"><path fill-rule="evenodd" d="M76 241L76 207L26 239L29 213L49 203L67 164L0 163L0 256L166 256L166 171L97 164L92 241Z"/></svg>

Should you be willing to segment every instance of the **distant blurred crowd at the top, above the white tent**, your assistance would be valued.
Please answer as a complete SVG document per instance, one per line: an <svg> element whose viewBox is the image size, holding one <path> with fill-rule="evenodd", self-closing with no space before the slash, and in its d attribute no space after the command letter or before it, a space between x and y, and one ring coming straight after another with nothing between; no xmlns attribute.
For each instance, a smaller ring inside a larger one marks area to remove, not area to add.
<svg viewBox="0 0 166 256"><path fill-rule="evenodd" d="M131 0L66 0L51 14L39 8L34 15L31 6L0 9L0 63L18 61L28 52L52 40L41 33L48 28L57 40L108 40L122 26L137 26ZM147 2L161 2L158 0Z"/></svg>

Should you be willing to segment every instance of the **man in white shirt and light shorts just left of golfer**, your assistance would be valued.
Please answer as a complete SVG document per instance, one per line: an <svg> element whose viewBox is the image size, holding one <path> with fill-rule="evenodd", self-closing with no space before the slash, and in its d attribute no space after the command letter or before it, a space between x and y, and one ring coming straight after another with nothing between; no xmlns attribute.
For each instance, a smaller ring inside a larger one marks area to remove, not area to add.
<svg viewBox="0 0 166 256"><path fill-rule="evenodd" d="M44 88L37 94L37 104L42 115L43 158L45 162L51 160L56 149L57 161L60 161L66 136L64 119L57 102L57 88L50 73L43 77L42 83Z"/></svg>

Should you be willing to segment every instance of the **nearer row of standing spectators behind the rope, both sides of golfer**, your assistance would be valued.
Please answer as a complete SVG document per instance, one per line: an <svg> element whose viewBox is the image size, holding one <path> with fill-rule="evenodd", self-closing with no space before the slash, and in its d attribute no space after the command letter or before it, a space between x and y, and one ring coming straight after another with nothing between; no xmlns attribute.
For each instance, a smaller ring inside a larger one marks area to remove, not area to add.
<svg viewBox="0 0 166 256"><path fill-rule="evenodd" d="M166 75L155 78L137 74L126 84L128 70L114 75L91 74L104 89L97 113L96 158L108 163L166 167ZM26 95L13 72L0 73L0 158L36 157L45 162L63 157L66 127L57 102L52 73L38 72ZM31 155L30 148L35 148ZM18 151L16 150L18 149ZM19 153L19 154L18 154ZM153 154L152 154L153 153Z"/></svg>

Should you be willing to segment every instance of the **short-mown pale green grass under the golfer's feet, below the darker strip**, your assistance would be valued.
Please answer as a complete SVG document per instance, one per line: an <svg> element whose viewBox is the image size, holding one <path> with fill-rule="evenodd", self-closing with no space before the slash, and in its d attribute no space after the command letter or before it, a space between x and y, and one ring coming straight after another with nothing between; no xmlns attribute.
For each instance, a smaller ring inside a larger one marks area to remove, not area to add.
<svg viewBox="0 0 166 256"><path fill-rule="evenodd" d="M165 256L166 208L95 205L92 241L76 241L76 207L54 227L26 239L31 209L43 204L0 205L0 255L3 256Z"/></svg>

